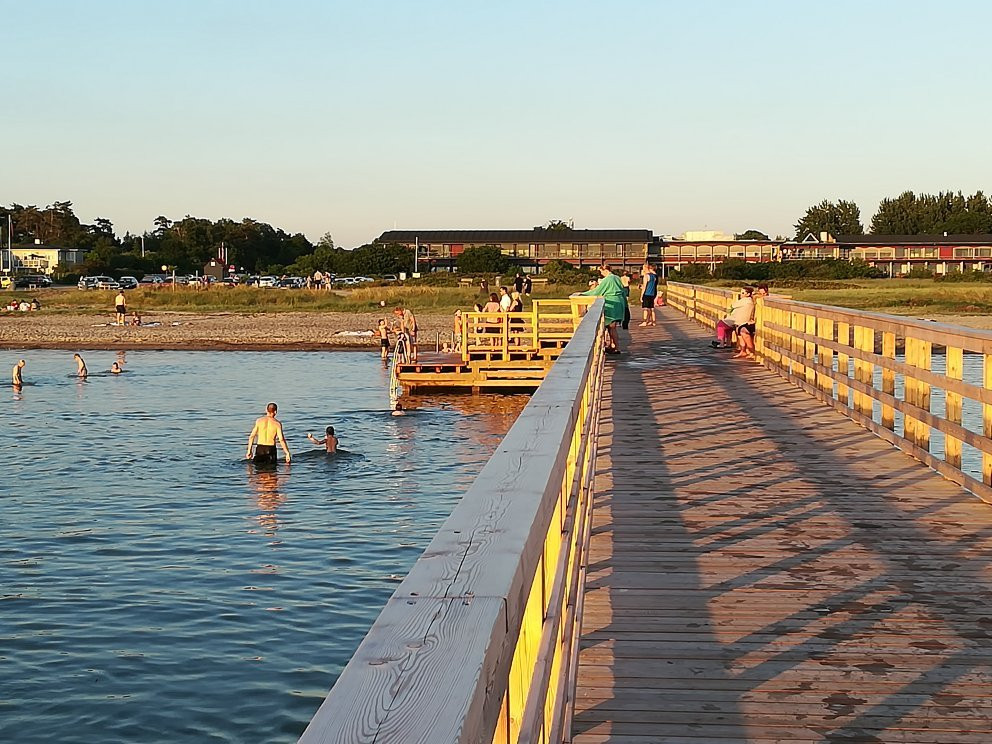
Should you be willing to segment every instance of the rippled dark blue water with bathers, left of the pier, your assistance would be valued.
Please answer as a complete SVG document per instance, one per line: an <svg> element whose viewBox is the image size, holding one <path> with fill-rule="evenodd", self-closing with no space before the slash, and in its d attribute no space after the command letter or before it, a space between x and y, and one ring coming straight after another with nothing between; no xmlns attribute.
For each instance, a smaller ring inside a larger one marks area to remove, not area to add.
<svg viewBox="0 0 992 744"><path fill-rule="evenodd" d="M84 356L0 353L0 741L295 740L525 402L390 416L364 353ZM270 400L294 459L260 472Z"/></svg>

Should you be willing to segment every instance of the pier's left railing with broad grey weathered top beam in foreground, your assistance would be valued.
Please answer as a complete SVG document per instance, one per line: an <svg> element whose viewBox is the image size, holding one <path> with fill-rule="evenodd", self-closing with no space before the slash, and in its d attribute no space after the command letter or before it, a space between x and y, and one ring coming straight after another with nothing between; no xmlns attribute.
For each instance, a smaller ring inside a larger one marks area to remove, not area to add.
<svg viewBox="0 0 992 744"><path fill-rule="evenodd" d="M603 303L404 578L304 744L545 744L569 729Z"/></svg>

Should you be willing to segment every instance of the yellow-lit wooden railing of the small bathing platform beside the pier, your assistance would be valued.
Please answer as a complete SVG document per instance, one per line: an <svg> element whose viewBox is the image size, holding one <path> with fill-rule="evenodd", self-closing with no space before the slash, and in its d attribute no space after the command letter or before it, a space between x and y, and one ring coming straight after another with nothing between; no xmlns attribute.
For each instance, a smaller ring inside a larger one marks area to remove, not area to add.
<svg viewBox="0 0 992 744"><path fill-rule="evenodd" d="M563 346L575 333L593 297L534 300L528 312L462 313L462 359L474 354L509 361L520 352Z"/></svg>

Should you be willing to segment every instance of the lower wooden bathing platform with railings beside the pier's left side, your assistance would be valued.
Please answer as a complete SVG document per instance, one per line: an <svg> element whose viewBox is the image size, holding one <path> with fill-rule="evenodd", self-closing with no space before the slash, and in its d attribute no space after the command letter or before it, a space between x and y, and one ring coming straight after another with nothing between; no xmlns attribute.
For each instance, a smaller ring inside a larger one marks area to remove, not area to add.
<svg viewBox="0 0 992 744"><path fill-rule="evenodd" d="M404 390L535 390L575 333L591 297L534 300L523 313L462 313L457 351L399 362Z"/></svg>

